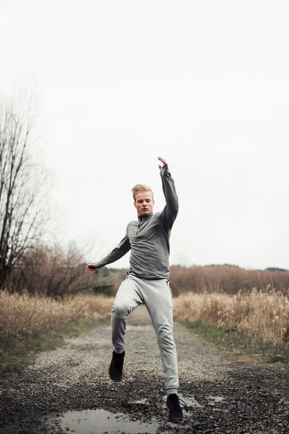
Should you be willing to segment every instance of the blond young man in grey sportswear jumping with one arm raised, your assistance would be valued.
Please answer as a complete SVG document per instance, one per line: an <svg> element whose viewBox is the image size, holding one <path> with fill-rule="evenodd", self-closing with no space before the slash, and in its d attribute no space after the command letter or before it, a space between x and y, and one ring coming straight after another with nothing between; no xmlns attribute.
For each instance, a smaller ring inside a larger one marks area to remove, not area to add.
<svg viewBox="0 0 289 434"><path fill-rule="evenodd" d="M112 308L112 362L110 378L121 381L125 357L124 336L128 315L139 304L146 304L159 342L161 361L166 385L166 405L171 422L181 422L182 408L179 406L177 388L177 351L173 338L173 300L168 279L170 277L170 231L179 209L175 182L168 164L158 157L162 188L166 206L153 214L155 205L149 186L137 184L132 189L137 218L128 224L126 235L119 245L105 258L88 263L86 268L94 271L108 263L117 261L130 250L128 277L122 282Z"/></svg>

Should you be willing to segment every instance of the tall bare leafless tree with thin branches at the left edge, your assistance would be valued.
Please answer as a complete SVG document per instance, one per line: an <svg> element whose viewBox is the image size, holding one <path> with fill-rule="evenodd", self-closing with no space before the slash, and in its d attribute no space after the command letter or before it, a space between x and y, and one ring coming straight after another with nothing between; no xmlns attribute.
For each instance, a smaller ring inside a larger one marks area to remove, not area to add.
<svg viewBox="0 0 289 434"><path fill-rule="evenodd" d="M0 288L41 230L46 175L33 162L32 98L0 96Z"/></svg>

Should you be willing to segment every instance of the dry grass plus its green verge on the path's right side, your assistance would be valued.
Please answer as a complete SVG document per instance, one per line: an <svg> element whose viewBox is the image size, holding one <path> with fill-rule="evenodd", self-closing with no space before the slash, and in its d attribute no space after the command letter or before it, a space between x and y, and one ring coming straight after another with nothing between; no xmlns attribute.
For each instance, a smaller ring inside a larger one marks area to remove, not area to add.
<svg viewBox="0 0 289 434"><path fill-rule="evenodd" d="M289 300L280 291L186 293L174 301L178 322L235 355L289 363Z"/></svg>

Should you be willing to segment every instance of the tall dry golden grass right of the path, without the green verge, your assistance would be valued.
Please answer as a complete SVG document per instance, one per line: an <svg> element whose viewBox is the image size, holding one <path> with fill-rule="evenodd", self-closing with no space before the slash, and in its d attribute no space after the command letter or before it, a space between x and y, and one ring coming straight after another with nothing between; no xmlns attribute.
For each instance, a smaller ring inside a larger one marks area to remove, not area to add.
<svg viewBox="0 0 289 434"><path fill-rule="evenodd" d="M281 292L185 293L175 298L174 306L179 319L235 329L274 345L289 344L289 300Z"/></svg>

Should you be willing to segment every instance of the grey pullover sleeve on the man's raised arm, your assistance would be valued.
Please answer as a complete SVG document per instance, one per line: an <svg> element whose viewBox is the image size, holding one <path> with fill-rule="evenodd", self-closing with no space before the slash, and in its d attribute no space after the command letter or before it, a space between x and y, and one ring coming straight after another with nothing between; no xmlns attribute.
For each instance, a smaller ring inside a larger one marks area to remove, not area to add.
<svg viewBox="0 0 289 434"><path fill-rule="evenodd" d="M179 211L179 201L175 190L175 182L170 175L168 164L161 169L161 182L166 199L166 206L161 211L161 220L166 229L171 229Z"/></svg>

